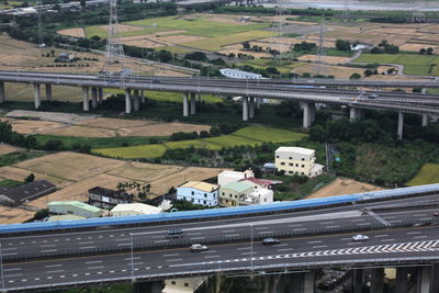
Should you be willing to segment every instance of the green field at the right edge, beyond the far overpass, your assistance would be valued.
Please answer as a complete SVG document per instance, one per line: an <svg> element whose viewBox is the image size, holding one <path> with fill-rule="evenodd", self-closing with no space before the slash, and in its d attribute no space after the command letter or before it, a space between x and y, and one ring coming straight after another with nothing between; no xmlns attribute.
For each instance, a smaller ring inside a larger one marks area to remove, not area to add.
<svg viewBox="0 0 439 293"><path fill-rule="evenodd" d="M401 64L404 74L413 76L439 76L439 56L419 54L362 54L359 63Z"/></svg>

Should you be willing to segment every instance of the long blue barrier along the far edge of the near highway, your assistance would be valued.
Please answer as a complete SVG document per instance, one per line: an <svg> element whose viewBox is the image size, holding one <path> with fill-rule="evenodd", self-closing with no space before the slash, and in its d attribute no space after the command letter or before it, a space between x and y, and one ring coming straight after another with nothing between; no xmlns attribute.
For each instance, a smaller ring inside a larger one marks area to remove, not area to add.
<svg viewBox="0 0 439 293"><path fill-rule="evenodd" d="M439 184L398 188L364 193L330 196L324 199L311 199L289 202L274 202L262 205L249 205L237 207L211 209L189 212L160 213L155 215L123 216L123 217L95 217L76 221L36 222L24 224L0 225L0 236L14 233L33 233L44 230L101 228L121 225L140 225L148 223L172 221L199 221L213 217L232 217L260 213L275 213L300 209L314 209L323 206L342 205L364 201L381 201L389 199L420 196L439 193Z"/></svg>

